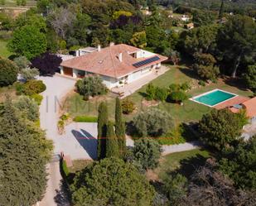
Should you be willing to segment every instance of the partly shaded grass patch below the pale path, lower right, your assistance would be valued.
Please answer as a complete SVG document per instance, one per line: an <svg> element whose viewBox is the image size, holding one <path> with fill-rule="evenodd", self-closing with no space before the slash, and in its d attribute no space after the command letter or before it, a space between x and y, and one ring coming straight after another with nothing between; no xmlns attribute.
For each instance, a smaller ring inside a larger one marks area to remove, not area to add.
<svg viewBox="0 0 256 206"><path fill-rule="evenodd" d="M160 165L154 172L160 180L165 180L171 172L179 172L189 177L200 165L205 165L205 160L210 157L210 152L203 149L181 151L163 156Z"/></svg>

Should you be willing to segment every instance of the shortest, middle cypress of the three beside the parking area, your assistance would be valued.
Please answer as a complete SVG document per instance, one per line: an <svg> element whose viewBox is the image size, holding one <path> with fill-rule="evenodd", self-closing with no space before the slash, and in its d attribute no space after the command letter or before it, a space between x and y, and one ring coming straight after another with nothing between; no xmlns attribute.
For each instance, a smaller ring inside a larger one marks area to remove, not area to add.
<svg viewBox="0 0 256 206"><path fill-rule="evenodd" d="M109 122L107 126L106 157L119 156L118 140L114 133L114 123Z"/></svg>

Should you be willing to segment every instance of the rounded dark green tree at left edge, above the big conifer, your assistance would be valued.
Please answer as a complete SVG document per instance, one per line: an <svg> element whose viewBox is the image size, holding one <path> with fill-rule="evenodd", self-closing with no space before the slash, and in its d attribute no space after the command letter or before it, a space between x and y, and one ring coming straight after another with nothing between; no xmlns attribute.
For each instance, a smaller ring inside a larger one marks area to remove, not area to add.
<svg viewBox="0 0 256 206"><path fill-rule="evenodd" d="M0 57L0 87L13 84L17 80L17 66L11 60Z"/></svg>

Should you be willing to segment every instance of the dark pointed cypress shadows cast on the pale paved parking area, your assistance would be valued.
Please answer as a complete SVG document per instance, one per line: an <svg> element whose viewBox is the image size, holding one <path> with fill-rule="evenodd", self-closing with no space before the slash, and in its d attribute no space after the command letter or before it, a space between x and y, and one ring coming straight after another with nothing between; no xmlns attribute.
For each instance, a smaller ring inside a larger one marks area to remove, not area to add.
<svg viewBox="0 0 256 206"><path fill-rule="evenodd" d="M72 134L75 139L83 146L88 155L96 160L97 158L97 139L93 137L89 132L80 129L80 131L72 130Z"/></svg>

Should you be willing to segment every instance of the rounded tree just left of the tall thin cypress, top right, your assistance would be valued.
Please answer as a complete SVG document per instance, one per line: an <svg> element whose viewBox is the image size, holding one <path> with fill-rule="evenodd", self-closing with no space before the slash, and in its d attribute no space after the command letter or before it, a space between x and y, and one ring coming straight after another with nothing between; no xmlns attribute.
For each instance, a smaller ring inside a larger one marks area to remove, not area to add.
<svg viewBox="0 0 256 206"><path fill-rule="evenodd" d="M215 21L215 14L210 11L195 10L193 12L193 20L196 26L207 26Z"/></svg>

